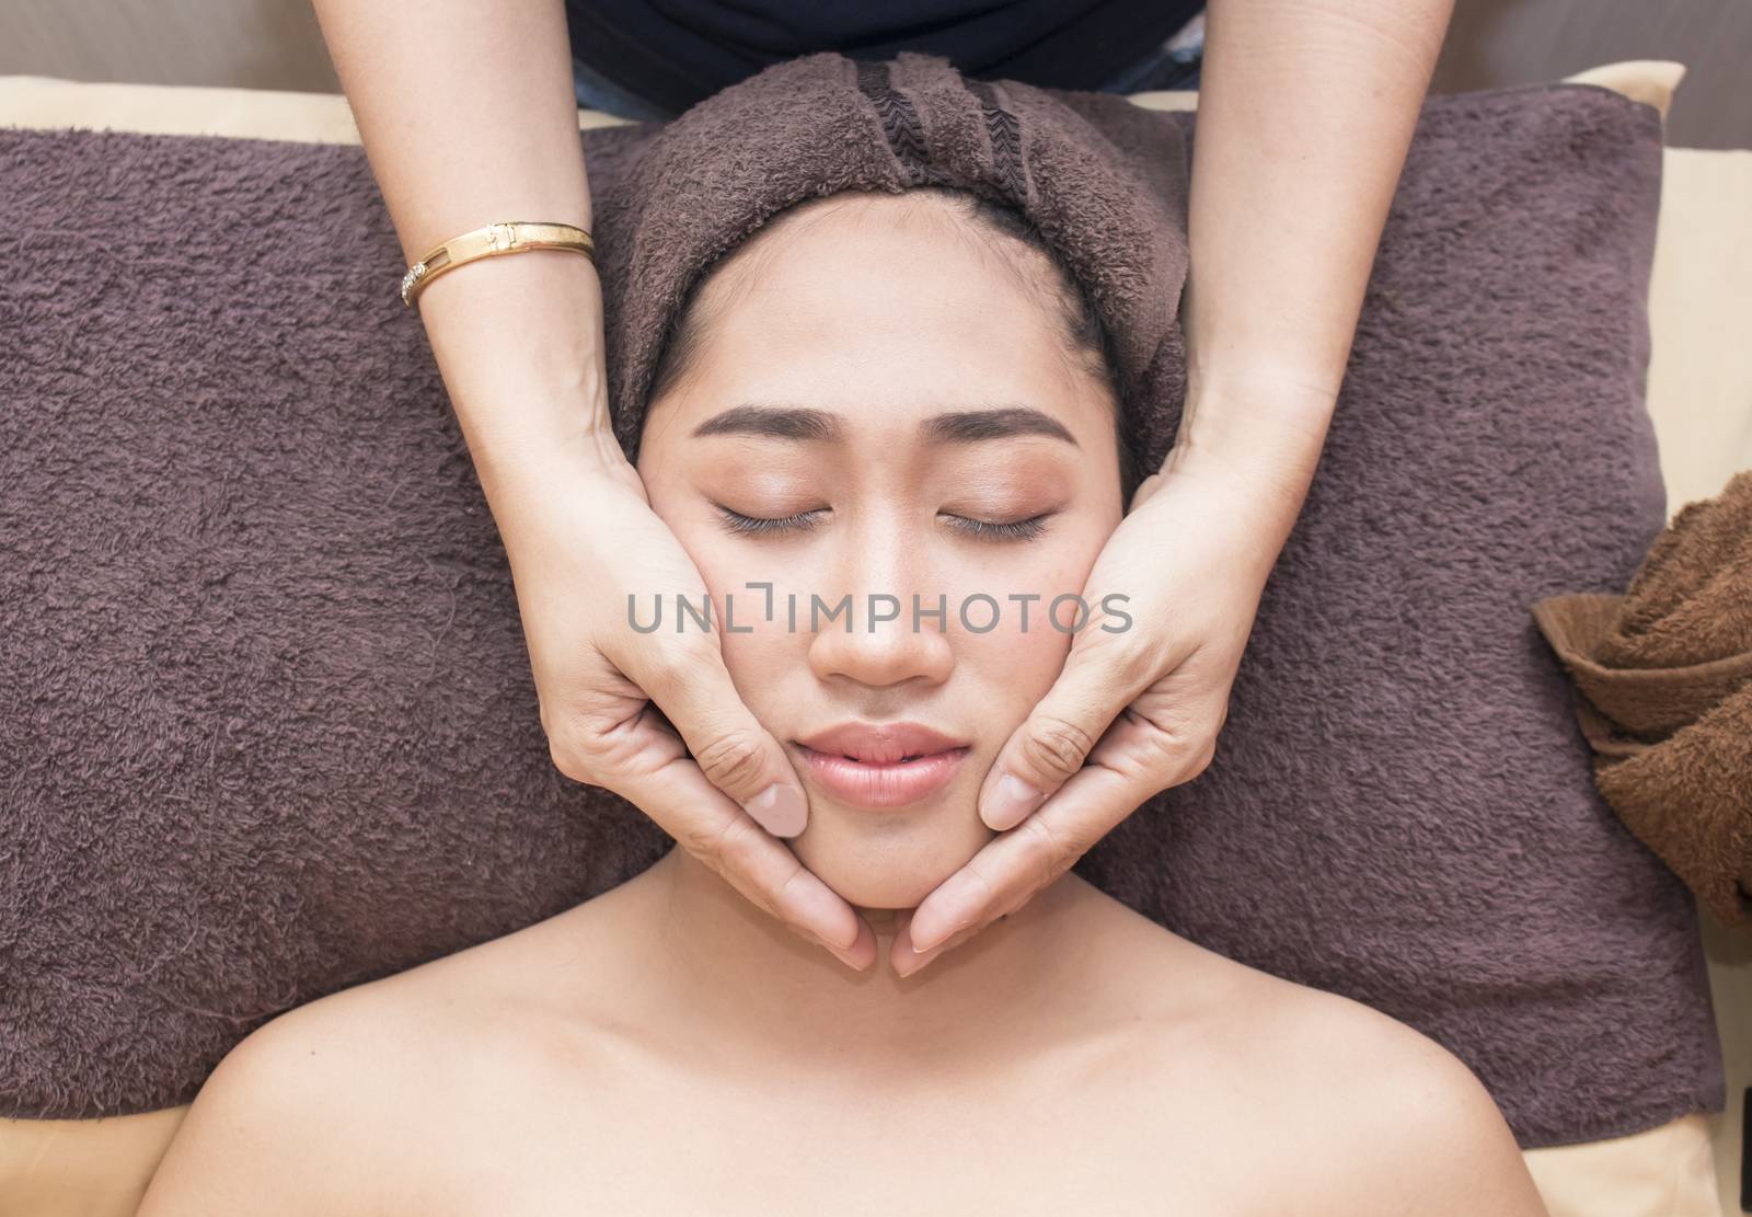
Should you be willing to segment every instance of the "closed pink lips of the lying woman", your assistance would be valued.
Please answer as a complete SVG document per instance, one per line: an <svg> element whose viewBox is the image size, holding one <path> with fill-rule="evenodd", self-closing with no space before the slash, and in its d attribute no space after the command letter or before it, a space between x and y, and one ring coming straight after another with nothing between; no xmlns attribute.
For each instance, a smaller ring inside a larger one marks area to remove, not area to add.
<svg viewBox="0 0 1752 1217"><path fill-rule="evenodd" d="M816 780L857 807L929 798L948 786L969 752L965 742L922 722L841 722L795 744Z"/></svg>

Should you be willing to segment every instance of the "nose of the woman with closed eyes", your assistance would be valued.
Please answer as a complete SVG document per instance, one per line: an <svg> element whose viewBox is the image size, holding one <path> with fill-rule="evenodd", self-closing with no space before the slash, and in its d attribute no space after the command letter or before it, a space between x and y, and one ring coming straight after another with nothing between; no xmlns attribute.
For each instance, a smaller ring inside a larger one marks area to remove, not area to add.
<svg viewBox="0 0 1752 1217"><path fill-rule="evenodd" d="M934 687L950 679L958 601L909 551L916 556L920 547L892 531L846 537L832 565L836 586L820 591L822 605L804 626L815 630L809 666L816 679L869 687L908 680ZM829 617L834 610L837 616Z"/></svg>

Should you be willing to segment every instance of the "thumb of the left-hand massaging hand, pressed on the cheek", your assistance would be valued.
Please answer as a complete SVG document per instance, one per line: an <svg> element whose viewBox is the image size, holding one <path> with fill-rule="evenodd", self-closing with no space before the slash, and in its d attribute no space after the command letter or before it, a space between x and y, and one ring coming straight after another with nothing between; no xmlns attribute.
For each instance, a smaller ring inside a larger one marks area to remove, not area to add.
<svg viewBox="0 0 1752 1217"><path fill-rule="evenodd" d="M652 638L613 659L664 712L711 786L774 836L795 836L809 821L797 772L736 691L717 637L699 638Z"/></svg>

